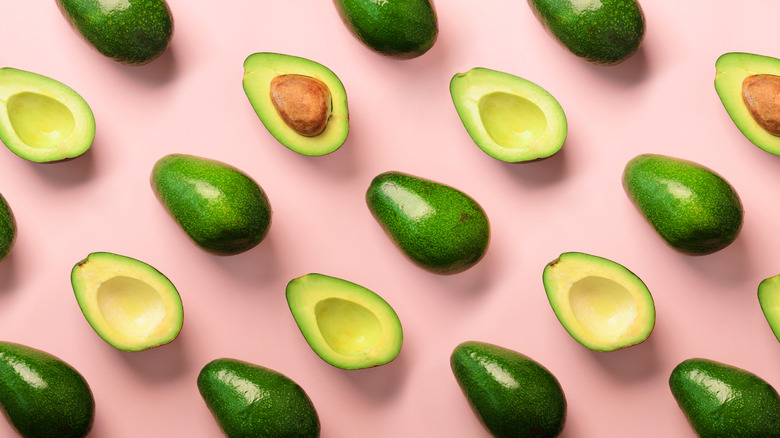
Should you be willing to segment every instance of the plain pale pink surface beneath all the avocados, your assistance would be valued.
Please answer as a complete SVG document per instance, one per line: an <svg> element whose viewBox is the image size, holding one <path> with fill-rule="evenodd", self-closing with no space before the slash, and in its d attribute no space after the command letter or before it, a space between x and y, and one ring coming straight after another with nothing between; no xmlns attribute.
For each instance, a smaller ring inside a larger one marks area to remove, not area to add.
<svg viewBox="0 0 780 438"><path fill-rule="evenodd" d="M450 352L466 340L549 368L569 403L565 437L693 436L667 384L690 357L740 366L780 387L780 345L756 298L758 283L780 273L780 161L739 133L713 87L725 52L780 55L780 5L645 1L642 49L608 68L565 51L517 0L438 1L438 42L410 61L369 51L326 0L169 4L172 46L143 67L103 58L53 1L0 5L0 64L68 84L97 121L92 149L70 162L34 164L0 148L0 193L19 226L0 263L0 338L53 353L87 378L97 402L91 436L220 436L195 385L218 357L297 381L325 438L487 436L449 368ZM310 58L341 78L351 131L340 150L303 157L265 130L241 87L244 59L260 51ZM452 75L476 66L550 91L569 121L564 149L525 165L484 154L448 91ZM695 258L664 244L620 183L625 163L645 152L697 161L731 182L746 212L733 245ZM219 159L255 178L273 206L268 238L232 257L197 248L149 185L154 162L168 153ZM386 170L477 199L493 232L484 260L452 277L406 260L364 202L371 179ZM94 251L168 275L185 309L178 339L125 353L93 332L69 273ZM645 343L595 353L568 336L541 283L545 264L565 251L610 258L645 281L657 310ZM361 371L320 360L284 299L287 282L309 272L390 302L404 326L399 357ZM14 436L4 421L0 436Z"/></svg>

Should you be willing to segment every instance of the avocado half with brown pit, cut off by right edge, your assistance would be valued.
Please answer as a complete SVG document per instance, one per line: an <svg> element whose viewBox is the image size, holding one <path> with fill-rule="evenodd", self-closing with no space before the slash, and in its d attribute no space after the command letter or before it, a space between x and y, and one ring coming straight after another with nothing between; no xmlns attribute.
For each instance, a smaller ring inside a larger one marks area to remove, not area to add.
<svg viewBox="0 0 780 438"><path fill-rule="evenodd" d="M715 62L715 91L742 134L780 155L780 59L731 52Z"/></svg>

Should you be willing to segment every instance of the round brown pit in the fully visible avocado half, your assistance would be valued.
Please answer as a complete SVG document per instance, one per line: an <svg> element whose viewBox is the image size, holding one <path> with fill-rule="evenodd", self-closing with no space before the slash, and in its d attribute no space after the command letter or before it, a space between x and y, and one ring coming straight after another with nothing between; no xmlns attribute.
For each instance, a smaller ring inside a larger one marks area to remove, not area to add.
<svg viewBox="0 0 780 438"><path fill-rule="evenodd" d="M313 77L289 74L273 78L271 102L287 126L305 137L320 135L330 118L330 90Z"/></svg>

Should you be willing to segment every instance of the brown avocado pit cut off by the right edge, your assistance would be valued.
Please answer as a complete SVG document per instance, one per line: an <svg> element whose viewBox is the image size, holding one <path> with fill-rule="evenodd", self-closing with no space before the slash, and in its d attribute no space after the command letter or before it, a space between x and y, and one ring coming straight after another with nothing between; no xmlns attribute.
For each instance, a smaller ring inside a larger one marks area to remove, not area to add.
<svg viewBox="0 0 780 438"><path fill-rule="evenodd" d="M748 76L742 82L742 99L756 123L780 136L780 76Z"/></svg>

